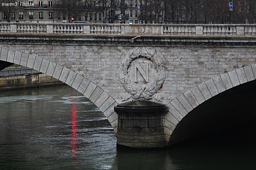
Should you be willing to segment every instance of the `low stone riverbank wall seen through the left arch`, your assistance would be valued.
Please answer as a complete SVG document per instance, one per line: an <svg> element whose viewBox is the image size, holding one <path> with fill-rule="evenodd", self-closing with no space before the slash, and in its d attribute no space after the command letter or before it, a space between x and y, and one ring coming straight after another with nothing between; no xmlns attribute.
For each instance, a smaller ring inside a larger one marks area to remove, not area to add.
<svg viewBox="0 0 256 170"><path fill-rule="evenodd" d="M41 72L0 76L0 91L61 84L64 83Z"/></svg>

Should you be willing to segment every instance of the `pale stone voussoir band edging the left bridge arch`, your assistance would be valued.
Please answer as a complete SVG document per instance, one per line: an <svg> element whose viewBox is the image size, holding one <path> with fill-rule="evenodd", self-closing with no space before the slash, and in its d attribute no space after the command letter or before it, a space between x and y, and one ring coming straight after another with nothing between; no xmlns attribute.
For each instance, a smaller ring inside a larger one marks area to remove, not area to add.
<svg viewBox="0 0 256 170"><path fill-rule="evenodd" d="M0 60L19 64L52 76L73 87L89 98L108 118L117 133L118 115L114 112L117 102L102 88L69 68L41 57L18 50L0 47Z"/></svg>

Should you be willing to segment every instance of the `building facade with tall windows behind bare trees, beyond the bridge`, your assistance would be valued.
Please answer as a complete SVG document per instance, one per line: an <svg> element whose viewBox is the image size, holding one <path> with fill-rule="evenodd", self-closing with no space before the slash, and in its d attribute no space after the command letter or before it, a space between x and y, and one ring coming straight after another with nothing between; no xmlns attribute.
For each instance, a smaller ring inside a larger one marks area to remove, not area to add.
<svg viewBox="0 0 256 170"><path fill-rule="evenodd" d="M61 23L159 23L143 19L138 0L89 2L83 0L6 0L0 6L0 22Z"/></svg>

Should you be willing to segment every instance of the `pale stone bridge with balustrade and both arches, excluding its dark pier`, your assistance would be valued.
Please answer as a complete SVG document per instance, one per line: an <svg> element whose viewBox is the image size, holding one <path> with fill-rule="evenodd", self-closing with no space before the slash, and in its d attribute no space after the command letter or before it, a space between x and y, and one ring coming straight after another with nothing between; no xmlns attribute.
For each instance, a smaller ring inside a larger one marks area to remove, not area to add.
<svg viewBox="0 0 256 170"><path fill-rule="evenodd" d="M256 25L0 23L0 67L20 64L65 82L116 134L117 104L165 104L164 137L151 135L170 146L255 121L255 35Z"/></svg>

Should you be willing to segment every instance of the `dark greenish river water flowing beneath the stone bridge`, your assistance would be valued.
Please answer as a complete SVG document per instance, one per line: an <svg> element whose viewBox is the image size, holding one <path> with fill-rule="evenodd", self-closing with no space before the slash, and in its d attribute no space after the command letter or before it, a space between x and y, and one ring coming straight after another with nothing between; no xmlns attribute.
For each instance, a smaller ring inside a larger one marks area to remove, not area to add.
<svg viewBox="0 0 256 170"><path fill-rule="evenodd" d="M255 160L254 142L117 151L108 120L73 88L0 92L0 169L256 169Z"/></svg>

